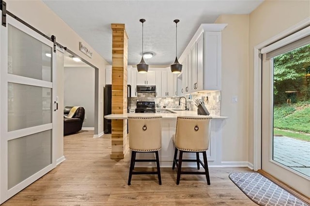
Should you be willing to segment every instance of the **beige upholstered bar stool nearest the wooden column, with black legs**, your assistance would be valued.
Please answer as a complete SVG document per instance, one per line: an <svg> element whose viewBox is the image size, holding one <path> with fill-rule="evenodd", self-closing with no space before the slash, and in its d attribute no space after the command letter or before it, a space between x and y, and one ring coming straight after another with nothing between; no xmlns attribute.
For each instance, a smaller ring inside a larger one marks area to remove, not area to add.
<svg viewBox="0 0 310 206"><path fill-rule="evenodd" d="M161 185L158 150L161 149L161 120L162 117L128 117L129 148L131 150L128 185L132 175L157 174ZM154 152L155 160L136 160L138 152ZM138 172L134 171L135 162L156 162L157 171Z"/></svg>

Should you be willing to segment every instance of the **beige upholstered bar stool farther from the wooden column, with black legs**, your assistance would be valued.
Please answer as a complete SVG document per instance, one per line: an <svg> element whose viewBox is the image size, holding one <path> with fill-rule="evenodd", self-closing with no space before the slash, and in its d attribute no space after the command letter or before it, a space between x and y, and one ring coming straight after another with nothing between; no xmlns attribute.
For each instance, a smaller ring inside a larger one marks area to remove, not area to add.
<svg viewBox="0 0 310 206"><path fill-rule="evenodd" d="M172 169L177 166L176 184L180 183L181 174L196 174L205 175L207 183L210 185L209 169L207 162L206 150L209 148L210 132L211 132L212 117L178 117L176 123L176 132L173 135L173 143L175 145ZM179 150L179 159L177 152ZM195 160L183 160L184 152L195 152ZM202 153L203 163L199 158L199 153ZM197 162L197 169L200 169L200 164L204 168L204 172L189 172L181 171L182 162Z"/></svg>

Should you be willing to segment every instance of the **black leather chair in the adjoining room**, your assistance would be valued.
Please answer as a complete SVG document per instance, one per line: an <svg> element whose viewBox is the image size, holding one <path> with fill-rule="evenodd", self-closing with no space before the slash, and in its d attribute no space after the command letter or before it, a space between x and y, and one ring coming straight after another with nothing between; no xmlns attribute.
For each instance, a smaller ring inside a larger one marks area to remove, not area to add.
<svg viewBox="0 0 310 206"><path fill-rule="evenodd" d="M63 135L72 134L82 129L85 109L78 107L72 118L67 118L73 106L65 106L63 109Z"/></svg>

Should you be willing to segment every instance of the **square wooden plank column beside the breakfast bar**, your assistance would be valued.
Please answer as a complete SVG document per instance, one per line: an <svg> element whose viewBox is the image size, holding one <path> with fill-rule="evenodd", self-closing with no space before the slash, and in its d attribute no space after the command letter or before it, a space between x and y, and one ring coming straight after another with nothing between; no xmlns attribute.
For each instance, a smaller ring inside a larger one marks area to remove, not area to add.
<svg viewBox="0 0 310 206"><path fill-rule="evenodd" d="M112 29L112 114L127 113L128 36L124 24ZM111 159L123 159L128 149L127 120L112 119Z"/></svg>

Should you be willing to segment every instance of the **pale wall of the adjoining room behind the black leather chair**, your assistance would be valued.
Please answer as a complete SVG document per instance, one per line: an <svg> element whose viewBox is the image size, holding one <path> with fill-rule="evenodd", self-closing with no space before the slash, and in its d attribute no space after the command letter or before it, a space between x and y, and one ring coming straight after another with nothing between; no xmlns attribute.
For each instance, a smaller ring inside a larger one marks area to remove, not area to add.
<svg viewBox="0 0 310 206"><path fill-rule="evenodd" d="M82 106L85 109L83 127L94 127L93 67L64 68L64 106Z"/></svg>

